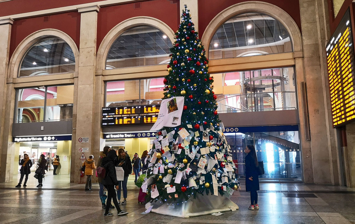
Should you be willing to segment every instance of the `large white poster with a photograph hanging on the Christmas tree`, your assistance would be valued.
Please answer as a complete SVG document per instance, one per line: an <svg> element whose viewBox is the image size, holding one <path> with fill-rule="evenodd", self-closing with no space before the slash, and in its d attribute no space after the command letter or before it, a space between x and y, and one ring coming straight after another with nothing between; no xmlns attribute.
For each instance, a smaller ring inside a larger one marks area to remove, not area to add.
<svg viewBox="0 0 355 224"><path fill-rule="evenodd" d="M184 110L184 96L176 96L162 100L157 121L151 131L163 127L176 127L181 124L181 114Z"/></svg>

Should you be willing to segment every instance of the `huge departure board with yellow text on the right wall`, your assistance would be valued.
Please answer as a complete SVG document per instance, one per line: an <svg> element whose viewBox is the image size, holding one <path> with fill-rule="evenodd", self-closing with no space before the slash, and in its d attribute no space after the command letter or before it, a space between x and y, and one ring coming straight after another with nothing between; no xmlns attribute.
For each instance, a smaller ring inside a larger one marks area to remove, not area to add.
<svg viewBox="0 0 355 224"><path fill-rule="evenodd" d="M333 127L355 119L354 46L349 10L327 44L327 67Z"/></svg>

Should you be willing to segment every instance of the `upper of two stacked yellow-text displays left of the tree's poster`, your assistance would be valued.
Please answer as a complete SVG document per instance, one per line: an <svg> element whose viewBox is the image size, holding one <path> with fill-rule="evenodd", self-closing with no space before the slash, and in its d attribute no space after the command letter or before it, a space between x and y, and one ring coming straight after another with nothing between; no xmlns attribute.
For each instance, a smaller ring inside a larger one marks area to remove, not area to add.
<svg viewBox="0 0 355 224"><path fill-rule="evenodd" d="M140 105L130 107L103 107L102 116L159 113L158 105Z"/></svg>

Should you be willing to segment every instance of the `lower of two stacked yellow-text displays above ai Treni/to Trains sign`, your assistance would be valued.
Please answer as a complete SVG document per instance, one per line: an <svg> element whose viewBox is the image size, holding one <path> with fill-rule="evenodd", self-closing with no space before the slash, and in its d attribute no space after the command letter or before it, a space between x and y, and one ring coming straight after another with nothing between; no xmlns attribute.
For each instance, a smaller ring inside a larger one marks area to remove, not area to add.
<svg viewBox="0 0 355 224"><path fill-rule="evenodd" d="M132 116L132 117L103 117L102 127L117 127L125 125L153 124L158 115Z"/></svg>

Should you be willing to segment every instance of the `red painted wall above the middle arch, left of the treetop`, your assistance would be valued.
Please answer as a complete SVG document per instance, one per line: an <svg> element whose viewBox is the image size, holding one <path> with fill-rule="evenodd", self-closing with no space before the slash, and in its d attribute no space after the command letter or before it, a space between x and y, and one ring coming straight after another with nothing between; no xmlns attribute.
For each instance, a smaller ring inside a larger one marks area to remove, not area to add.
<svg viewBox="0 0 355 224"><path fill-rule="evenodd" d="M112 28L120 22L136 16L157 18L175 32L180 24L179 11L179 1L171 0L142 1L141 9L135 9L134 3L102 7L97 18L97 49Z"/></svg>

